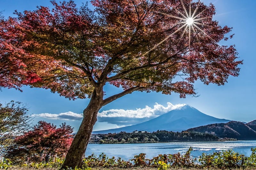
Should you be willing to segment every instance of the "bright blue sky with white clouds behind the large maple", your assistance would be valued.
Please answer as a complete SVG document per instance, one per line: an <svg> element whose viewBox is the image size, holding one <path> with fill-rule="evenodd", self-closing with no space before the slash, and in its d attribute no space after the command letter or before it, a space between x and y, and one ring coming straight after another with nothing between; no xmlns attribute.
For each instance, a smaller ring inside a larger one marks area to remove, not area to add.
<svg viewBox="0 0 256 170"><path fill-rule="evenodd" d="M78 6L85 3L84 0L75 0ZM173 105L179 103L189 104L205 114L226 118L230 120L249 122L256 119L255 110L255 73L256 73L256 58L255 58L255 28L256 28L256 1L254 0L204 0L205 4L212 3L216 7L216 15L214 19L219 21L221 26L228 25L233 27L232 33L235 36L228 41L221 42L221 45L236 45L241 60L244 64L240 66L241 71L238 77L229 77L228 83L224 86L214 84L204 85L202 82L196 82L196 92L199 97L187 96L185 99L180 99L178 94L171 96L161 93L141 93L134 92L126 95L116 101L109 103L100 110L100 115L118 115L124 113L124 121L116 121L117 119L103 119L99 117L99 121L94 126L94 130L103 130L115 128L122 125L134 124L139 121L156 117L159 114L172 108ZM5 17L14 16L14 10L20 12L24 10L35 10L36 6L51 6L48 0L0 0L0 11ZM78 99L70 101L58 94L53 94L50 90L31 89L23 87L23 92L14 89L2 89L0 91L0 102L5 103L11 100L27 103L29 114L54 114L52 118L34 117L33 124L38 120L45 120L56 125L62 122L67 122L76 131L80 125L79 114L89 103L89 99ZM107 85L105 88L107 95L120 92L120 89ZM158 104L156 104L158 103ZM148 107L147 107L148 106ZM155 107L155 108L154 108ZM173 106L174 107L174 106ZM67 113L68 112L68 113ZM71 113L72 112L72 113ZM161 113L160 113L161 112ZM58 114L62 114L62 117ZM115 113L115 114L113 114ZM148 117L143 117L142 113L147 113ZM134 117L130 115L135 115ZM76 120L70 120L69 117L76 117ZM120 115L119 115L120 116ZM65 120L63 119L65 118ZM121 119L119 117L119 119ZM115 121L114 121L115 120ZM111 124L116 123L116 124Z"/></svg>

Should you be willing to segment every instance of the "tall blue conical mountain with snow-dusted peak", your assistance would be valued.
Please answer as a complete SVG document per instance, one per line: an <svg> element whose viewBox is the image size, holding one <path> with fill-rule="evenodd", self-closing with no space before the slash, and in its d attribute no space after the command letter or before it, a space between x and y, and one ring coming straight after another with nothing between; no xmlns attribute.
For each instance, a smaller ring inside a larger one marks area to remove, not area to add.
<svg viewBox="0 0 256 170"><path fill-rule="evenodd" d="M157 130L167 130L167 131L184 131L189 128L202 126L212 123L226 123L230 120L219 119L206 115L195 108L184 105L178 109L171 110L159 117L151 119L149 121L135 124L131 126L125 126L116 129L108 129L103 131L93 131L93 134L107 134L107 133L118 133L121 131L132 132L138 131L157 131Z"/></svg>

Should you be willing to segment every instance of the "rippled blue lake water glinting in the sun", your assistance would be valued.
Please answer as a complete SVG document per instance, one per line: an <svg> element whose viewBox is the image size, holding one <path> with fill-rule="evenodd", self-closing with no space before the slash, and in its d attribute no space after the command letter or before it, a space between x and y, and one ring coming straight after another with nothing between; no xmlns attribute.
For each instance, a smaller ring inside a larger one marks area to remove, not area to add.
<svg viewBox="0 0 256 170"><path fill-rule="evenodd" d="M158 154L184 154L192 146L191 156L198 157L203 152L213 153L232 149L235 152L250 156L251 148L256 147L256 140L225 141L225 142L170 142L170 143L141 143L141 144L89 144L85 156L92 153L99 156L102 152L109 158L115 156L129 160L140 153L146 153L146 158L152 159Z"/></svg>

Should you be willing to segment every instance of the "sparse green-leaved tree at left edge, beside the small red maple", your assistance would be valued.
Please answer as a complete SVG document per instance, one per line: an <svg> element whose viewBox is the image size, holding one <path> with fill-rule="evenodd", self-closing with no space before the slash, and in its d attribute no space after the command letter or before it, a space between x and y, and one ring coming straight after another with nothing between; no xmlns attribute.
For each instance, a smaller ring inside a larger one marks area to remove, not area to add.
<svg viewBox="0 0 256 170"><path fill-rule="evenodd" d="M0 154L12 144L13 138L28 130L28 110L20 102L0 103Z"/></svg>

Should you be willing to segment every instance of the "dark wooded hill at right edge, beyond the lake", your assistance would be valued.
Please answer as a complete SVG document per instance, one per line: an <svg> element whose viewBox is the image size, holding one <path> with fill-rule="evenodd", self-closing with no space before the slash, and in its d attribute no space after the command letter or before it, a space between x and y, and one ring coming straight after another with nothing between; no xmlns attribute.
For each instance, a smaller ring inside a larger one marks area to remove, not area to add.
<svg viewBox="0 0 256 170"><path fill-rule="evenodd" d="M187 131L215 133L219 138L236 138L243 140L256 139L256 120L244 124L243 122L230 121L228 123L208 124Z"/></svg>

